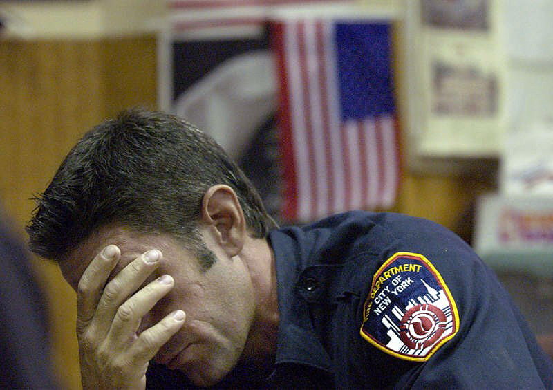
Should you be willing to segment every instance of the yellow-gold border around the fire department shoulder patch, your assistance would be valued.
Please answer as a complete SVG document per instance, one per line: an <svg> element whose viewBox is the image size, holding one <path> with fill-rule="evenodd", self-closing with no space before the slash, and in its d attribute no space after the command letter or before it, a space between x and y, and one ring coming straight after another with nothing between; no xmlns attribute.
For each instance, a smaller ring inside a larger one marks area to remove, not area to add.
<svg viewBox="0 0 553 390"><path fill-rule="evenodd" d="M435 277L438 278L438 281L440 281L440 284L444 288L444 292L447 296L447 299L449 299L449 303L451 304L451 312L453 313L453 318L455 319L455 330L453 331L453 333L451 333L451 335L445 337L443 340L440 340L440 342L438 342L438 344L436 344L434 346L434 348L431 349L431 351L429 351L426 356L424 356L424 358L413 358L413 357L410 357L410 356L402 355L401 353L397 353L395 351L392 351L391 349L386 348L386 346L382 346L381 344L377 343L375 340L373 340L373 338L370 335L366 335L363 332L363 325L365 324L366 317L367 317L367 313L365 313L365 308L363 308L363 324L361 324L361 329L359 329L359 334L366 341L368 341L369 343L371 343L375 347L377 347L377 349L379 349L379 350L381 350L385 353L388 353L388 355L393 355L396 358L400 358L400 359L403 359L403 360L410 360L411 362L426 362L427 360L429 360L429 358L431 358L431 356L435 353L435 351L438 351L440 346L442 346L443 344L445 344L446 342L451 340L453 337L455 337L455 335L459 331L459 327L460 327L459 326L459 313L457 311L457 305L455 304L455 300L453 299L453 295L451 295L451 292L449 291L449 288L445 284L445 281L442 278L442 275L440 275L440 272L438 272L438 270L436 270L436 268L432 265L432 263L429 261L429 259L424 257L424 255L418 254L418 253L395 252L395 254L393 254L390 258L388 258L388 260L384 261L384 264L382 264L382 266L380 266L380 268L378 268L377 272L375 272L375 275L373 275L373 282L371 284L371 290L369 290L368 297L365 300L364 306L366 306L368 299L370 299L371 292L373 291L373 288L375 287L376 281L377 281L379 275L382 273L382 271L390 263L392 263L395 259L397 259L398 257L405 257L405 256L418 258L420 261L425 263L429 267L429 269L434 273Z"/></svg>

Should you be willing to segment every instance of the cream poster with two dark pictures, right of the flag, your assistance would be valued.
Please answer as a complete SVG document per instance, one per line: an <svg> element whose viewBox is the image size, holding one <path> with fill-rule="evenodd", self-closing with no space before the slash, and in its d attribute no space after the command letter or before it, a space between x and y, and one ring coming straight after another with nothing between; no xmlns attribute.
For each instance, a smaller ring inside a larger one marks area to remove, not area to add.
<svg viewBox="0 0 553 390"><path fill-rule="evenodd" d="M500 2L408 2L409 124L415 154L494 157L505 132Z"/></svg>

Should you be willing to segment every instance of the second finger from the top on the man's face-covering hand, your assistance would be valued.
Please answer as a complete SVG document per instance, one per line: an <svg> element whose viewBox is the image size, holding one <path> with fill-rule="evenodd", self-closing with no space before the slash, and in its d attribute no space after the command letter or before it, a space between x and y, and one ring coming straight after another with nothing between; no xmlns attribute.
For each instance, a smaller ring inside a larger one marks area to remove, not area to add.
<svg viewBox="0 0 553 390"><path fill-rule="evenodd" d="M106 284L93 319L100 332L106 334L109 331L119 306L158 268L161 257L159 250L149 250L127 264Z"/></svg>

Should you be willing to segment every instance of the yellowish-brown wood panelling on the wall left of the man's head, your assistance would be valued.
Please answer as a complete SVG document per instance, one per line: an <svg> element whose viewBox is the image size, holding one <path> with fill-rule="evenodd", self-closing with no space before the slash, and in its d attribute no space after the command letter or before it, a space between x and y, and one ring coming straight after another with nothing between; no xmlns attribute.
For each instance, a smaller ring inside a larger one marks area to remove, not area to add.
<svg viewBox="0 0 553 390"><path fill-rule="evenodd" d="M22 239L33 207L84 131L127 106L156 105L153 37L0 41L0 202ZM79 388L76 300L53 263L33 259L50 307L60 382Z"/></svg>

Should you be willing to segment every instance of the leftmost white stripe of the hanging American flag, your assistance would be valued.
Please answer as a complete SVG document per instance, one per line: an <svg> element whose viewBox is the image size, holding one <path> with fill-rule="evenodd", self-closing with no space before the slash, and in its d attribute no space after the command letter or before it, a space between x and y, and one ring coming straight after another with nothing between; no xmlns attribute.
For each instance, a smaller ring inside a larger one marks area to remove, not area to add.
<svg viewBox="0 0 553 390"><path fill-rule="evenodd" d="M285 24L285 60L288 86L290 88L290 111L292 120L292 139L297 180L297 216L300 220L307 220L310 215L309 199L311 194L311 178L309 155L306 149L306 122L303 116L305 105L301 91L301 69L299 67L298 24Z"/></svg>

